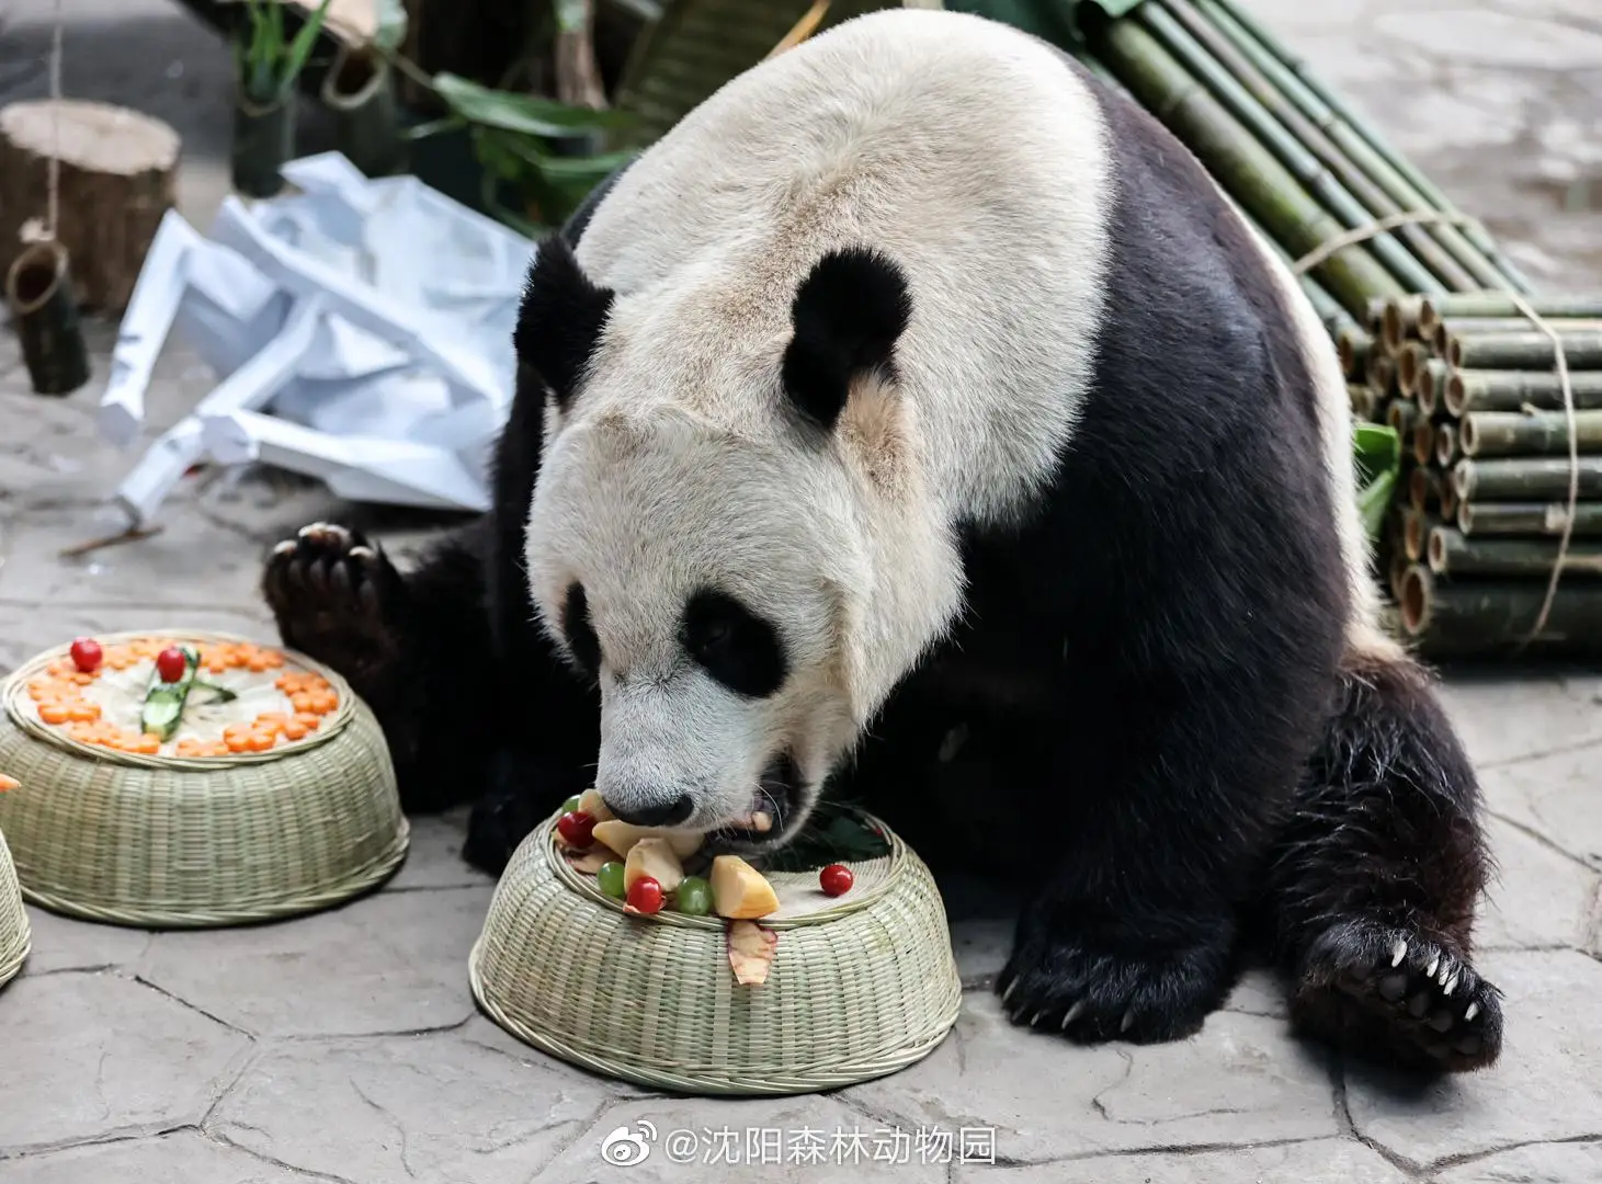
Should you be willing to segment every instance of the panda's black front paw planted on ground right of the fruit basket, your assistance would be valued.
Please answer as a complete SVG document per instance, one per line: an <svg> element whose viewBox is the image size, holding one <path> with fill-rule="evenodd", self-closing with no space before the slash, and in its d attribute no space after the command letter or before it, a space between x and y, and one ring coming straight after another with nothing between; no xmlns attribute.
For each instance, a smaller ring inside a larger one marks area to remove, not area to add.
<svg viewBox="0 0 1602 1184"><path fill-rule="evenodd" d="M1022 1027L1061 1032L1075 1043L1153 1045L1200 1030L1232 981L1234 923L1203 924L1179 950L1141 950L1137 929L1118 950L1048 928L1025 915L1012 956L996 979L1001 1006Z"/></svg>

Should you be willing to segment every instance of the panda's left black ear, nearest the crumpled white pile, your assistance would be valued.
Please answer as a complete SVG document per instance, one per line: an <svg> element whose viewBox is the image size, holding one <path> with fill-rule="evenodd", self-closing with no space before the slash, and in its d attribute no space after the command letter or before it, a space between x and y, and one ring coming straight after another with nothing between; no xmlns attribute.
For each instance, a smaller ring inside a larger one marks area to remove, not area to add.
<svg viewBox="0 0 1602 1184"><path fill-rule="evenodd" d="M601 340L612 295L585 276L567 239L553 234L540 242L522 285L513 346L564 410Z"/></svg>

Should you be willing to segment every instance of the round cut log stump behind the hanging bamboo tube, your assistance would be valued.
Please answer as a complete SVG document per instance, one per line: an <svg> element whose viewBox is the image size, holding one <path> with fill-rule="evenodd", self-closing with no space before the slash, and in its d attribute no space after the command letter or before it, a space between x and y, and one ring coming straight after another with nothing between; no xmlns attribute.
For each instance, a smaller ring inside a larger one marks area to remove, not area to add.
<svg viewBox="0 0 1602 1184"><path fill-rule="evenodd" d="M106 103L40 99L0 109L0 274L27 245L22 226L48 216L58 144L56 239L72 256L72 288L82 308L120 312L175 202L178 133Z"/></svg>

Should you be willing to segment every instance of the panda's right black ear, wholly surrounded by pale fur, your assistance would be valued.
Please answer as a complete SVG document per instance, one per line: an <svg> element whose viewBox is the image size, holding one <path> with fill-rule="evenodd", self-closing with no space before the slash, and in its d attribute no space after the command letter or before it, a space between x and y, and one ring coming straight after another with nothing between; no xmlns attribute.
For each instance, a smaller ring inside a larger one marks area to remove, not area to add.
<svg viewBox="0 0 1602 1184"><path fill-rule="evenodd" d="M796 288L782 380L796 409L835 426L851 383L870 372L894 373L896 341L912 317L907 277L883 255L852 247L819 260Z"/></svg>

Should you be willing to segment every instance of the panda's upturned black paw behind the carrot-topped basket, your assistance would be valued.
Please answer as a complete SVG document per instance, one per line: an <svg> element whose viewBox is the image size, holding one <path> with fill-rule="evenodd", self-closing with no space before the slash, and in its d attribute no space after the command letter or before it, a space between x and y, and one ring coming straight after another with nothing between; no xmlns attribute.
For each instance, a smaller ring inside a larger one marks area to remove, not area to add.
<svg viewBox="0 0 1602 1184"><path fill-rule="evenodd" d="M272 548L261 575L285 646L340 671L356 694L383 697L397 675L405 588L384 553L332 522Z"/></svg>

